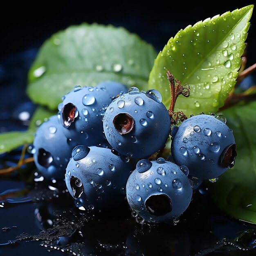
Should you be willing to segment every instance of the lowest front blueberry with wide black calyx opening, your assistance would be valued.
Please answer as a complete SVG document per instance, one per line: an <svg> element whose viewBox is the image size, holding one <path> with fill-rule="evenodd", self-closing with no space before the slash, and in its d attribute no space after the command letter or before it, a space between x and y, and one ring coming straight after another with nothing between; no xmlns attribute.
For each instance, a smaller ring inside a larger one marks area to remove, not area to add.
<svg viewBox="0 0 256 256"><path fill-rule="evenodd" d="M147 222L173 224L191 201L188 174L186 166L164 159L140 160L126 184L131 209Z"/></svg>

